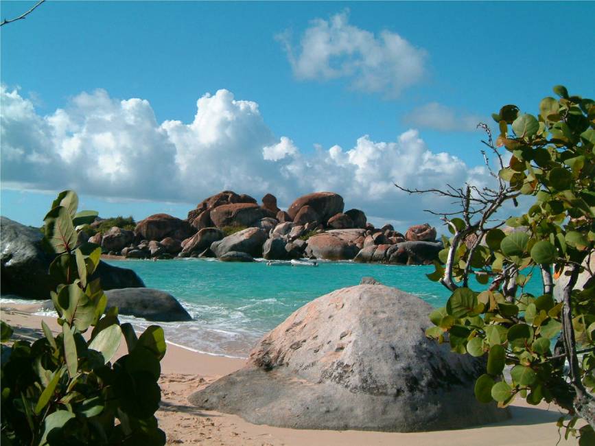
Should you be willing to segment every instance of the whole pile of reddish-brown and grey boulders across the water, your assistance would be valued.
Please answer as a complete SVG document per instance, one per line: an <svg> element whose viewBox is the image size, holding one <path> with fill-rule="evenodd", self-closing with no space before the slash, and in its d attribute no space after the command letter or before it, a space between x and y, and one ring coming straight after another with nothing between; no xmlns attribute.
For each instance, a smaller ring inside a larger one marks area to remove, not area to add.
<svg viewBox="0 0 595 446"><path fill-rule="evenodd" d="M113 227L89 239L106 253L132 259L217 257L222 261L310 259L364 263L432 263L442 249L436 229L418 224L405 235L392 225L375 228L360 209L344 211L338 193L315 192L287 211L267 193L257 200L222 191L202 200L185 220L151 215L134 231Z"/></svg>

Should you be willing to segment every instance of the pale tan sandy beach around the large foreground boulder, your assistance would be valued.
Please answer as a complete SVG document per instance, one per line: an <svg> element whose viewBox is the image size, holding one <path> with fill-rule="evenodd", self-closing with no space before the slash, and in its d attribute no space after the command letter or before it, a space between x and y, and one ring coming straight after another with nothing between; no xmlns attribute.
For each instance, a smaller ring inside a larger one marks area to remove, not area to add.
<svg viewBox="0 0 595 446"><path fill-rule="evenodd" d="M2 319L19 338L42 336L41 319L58 330L55 318L36 316L33 305L7 303ZM124 349L121 348L121 353ZM247 352L246 352L247 353ZM244 361L195 353L175 344L167 345L161 362L161 409L159 425L167 434L167 444L180 445L555 445L559 412L547 405L528 406L517 399L512 418L502 423L464 430L400 434L392 432L294 430L247 423L239 416L198 410L187 397L218 377L242 367ZM576 444L574 438L559 444Z"/></svg>

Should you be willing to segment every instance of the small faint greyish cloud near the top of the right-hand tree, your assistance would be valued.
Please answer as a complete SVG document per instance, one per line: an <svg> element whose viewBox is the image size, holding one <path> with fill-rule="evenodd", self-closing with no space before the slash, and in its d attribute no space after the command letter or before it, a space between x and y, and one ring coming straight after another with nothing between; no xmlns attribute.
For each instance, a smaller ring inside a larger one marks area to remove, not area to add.
<svg viewBox="0 0 595 446"><path fill-rule="evenodd" d="M414 108L404 117L404 121L410 126L419 128L430 128L441 132L474 132L477 125L485 118L468 113L456 113L450 107L438 102L430 102L423 106Z"/></svg>

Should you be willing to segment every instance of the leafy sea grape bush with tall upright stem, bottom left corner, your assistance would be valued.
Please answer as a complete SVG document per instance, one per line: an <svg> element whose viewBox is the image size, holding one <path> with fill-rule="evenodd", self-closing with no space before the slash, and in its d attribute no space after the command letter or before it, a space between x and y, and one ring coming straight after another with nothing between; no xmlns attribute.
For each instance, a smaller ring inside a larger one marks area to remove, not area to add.
<svg viewBox="0 0 595 446"><path fill-rule="evenodd" d="M61 333L42 322L44 337L5 344L12 329L2 322L1 441L10 445L163 445L157 427L163 329L139 338L120 324L117 308L104 314L106 295L89 277L101 248L77 246L75 227L97 213L77 213L78 197L63 191L45 217L45 246L56 254L49 267ZM111 362L122 339L128 354ZM117 421L116 421L117 420Z"/></svg>

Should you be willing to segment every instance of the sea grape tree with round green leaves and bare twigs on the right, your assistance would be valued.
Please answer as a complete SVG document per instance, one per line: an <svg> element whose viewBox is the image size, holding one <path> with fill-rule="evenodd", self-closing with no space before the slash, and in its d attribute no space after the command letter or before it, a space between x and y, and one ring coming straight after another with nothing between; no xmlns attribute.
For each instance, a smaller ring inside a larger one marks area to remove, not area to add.
<svg viewBox="0 0 595 446"><path fill-rule="evenodd" d="M462 210L443 218L452 237L444 237L440 262L428 277L452 295L430 315L435 326L427 335L447 340L457 353L487 356L487 373L475 387L479 401L506 406L517 395L530 404L554 401L568 410L568 424L559 421L567 436L581 435L580 444L587 444L595 435L595 277L589 267L595 255L595 102L570 96L563 86L554 91L559 99L543 99L537 117L502 107L493 115L500 128L495 143L483 126L489 137L483 142L500 163L492 172L498 190L467 185L441 193L460 199ZM525 213L505 222L495 218L506 200L517 204L520 196L533 198ZM504 224L511 231L502 231ZM574 289L580 273L589 278L583 290ZM535 274L544 282L539 296L524 291ZM469 283L472 275L478 286ZM558 300L553 277L568 279ZM510 378L502 373L506 365ZM589 424L576 430L579 417Z"/></svg>

